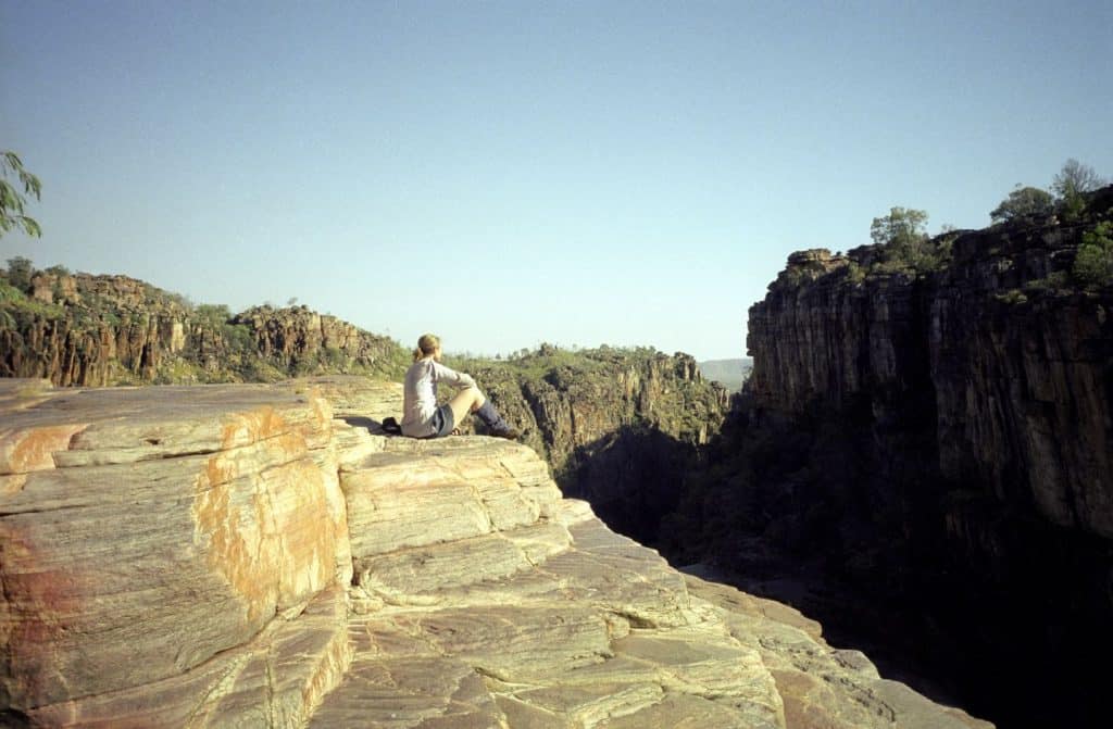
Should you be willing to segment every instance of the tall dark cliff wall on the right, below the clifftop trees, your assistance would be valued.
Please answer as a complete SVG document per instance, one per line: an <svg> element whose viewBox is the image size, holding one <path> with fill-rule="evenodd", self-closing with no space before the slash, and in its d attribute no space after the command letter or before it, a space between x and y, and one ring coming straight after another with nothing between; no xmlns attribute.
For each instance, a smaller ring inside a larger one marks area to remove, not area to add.
<svg viewBox="0 0 1113 729"><path fill-rule="evenodd" d="M765 516L740 531L915 605L925 650L963 641L967 690L1020 722L1103 710L1076 667L1113 649L1113 288L1072 266L1111 208L954 234L920 275L802 252L750 309L735 449ZM1036 681L1033 657L1067 668Z"/></svg>

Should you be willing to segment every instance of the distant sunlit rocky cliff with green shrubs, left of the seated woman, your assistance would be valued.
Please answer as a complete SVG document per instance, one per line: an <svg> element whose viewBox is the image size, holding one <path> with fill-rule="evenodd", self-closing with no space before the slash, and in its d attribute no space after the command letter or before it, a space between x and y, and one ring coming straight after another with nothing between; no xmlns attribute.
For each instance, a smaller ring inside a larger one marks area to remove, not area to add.
<svg viewBox="0 0 1113 729"><path fill-rule="evenodd" d="M397 376L405 359L394 342L305 307L232 316L126 276L58 270L0 284L6 377L102 386L258 382L314 372Z"/></svg>

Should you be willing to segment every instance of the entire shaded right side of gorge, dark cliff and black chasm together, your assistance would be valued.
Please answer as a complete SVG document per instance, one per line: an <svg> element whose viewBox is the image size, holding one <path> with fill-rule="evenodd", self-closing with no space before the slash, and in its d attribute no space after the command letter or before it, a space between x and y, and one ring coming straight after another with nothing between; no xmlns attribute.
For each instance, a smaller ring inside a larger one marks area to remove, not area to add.
<svg viewBox="0 0 1113 729"><path fill-rule="evenodd" d="M719 435L593 430L562 485L924 693L1006 728L1104 727L1113 277L1080 260L1113 265L1113 186L794 253L749 309L754 370Z"/></svg>

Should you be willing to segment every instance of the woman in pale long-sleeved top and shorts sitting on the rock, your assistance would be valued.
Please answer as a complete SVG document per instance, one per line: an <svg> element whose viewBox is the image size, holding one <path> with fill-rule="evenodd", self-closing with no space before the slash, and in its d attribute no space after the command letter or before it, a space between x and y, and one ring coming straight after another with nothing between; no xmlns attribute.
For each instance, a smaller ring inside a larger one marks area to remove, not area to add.
<svg viewBox="0 0 1113 729"><path fill-rule="evenodd" d="M451 401L437 406L436 385L447 383L460 388ZM474 414L491 435L514 440L518 431L502 418L499 411L467 374L441 364L441 339L423 334L414 349L414 363L406 371L402 434L410 437L442 437L455 432L456 423Z"/></svg>

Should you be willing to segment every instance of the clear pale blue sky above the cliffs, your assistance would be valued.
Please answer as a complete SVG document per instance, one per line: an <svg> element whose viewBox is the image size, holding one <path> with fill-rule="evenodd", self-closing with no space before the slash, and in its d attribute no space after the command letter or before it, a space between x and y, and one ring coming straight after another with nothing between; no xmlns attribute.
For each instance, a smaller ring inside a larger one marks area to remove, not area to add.
<svg viewBox="0 0 1113 729"><path fill-rule="evenodd" d="M0 0L2 259L410 346L745 355L789 253L1113 175L1113 3Z"/></svg>

